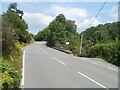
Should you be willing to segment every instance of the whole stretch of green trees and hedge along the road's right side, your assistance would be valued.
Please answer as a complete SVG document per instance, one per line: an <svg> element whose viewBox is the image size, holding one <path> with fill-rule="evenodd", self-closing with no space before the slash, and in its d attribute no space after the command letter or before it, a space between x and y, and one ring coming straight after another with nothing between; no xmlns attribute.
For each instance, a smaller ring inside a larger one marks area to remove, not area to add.
<svg viewBox="0 0 120 90"><path fill-rule="evenodd" d="M78 34L77 25L73 20L66 20L63 14L59 14L48 25L47 30L40 31L35 40L46 40L47 45L55 47L56 44L70 42L67 49L76 56L99 57L118 65L118 46L120 40L120 22L99 24ZM82 53L80 50L80 37L83 35ZM47 38L47 39L46 39Z"/></svg>

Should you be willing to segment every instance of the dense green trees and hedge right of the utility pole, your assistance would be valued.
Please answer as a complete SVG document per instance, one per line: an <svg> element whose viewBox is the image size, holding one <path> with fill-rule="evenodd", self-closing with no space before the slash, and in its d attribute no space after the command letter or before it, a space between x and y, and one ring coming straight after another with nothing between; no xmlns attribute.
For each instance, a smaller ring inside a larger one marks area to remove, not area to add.
<svg viewBox="0 0 120 90"><path fill-rule="evenodd" d="M120 22L100 24L83 31L83 49L80 56L99 57L118 64L119 27Z"/></svg>

